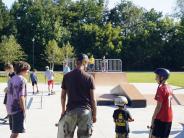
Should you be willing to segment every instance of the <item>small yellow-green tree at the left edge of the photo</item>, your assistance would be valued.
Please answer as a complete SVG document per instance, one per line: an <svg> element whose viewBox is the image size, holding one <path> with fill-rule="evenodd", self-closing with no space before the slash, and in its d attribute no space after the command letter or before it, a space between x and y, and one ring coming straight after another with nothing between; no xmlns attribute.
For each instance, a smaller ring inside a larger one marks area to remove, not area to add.
<svg viewBox="0 0 184 138"><path fill-rule="evenodd" d="M4 36L0 43L0 61L2 63L12 63L14 61L25 59L26 55L21 46L17 43L13 35Z"/></svg>

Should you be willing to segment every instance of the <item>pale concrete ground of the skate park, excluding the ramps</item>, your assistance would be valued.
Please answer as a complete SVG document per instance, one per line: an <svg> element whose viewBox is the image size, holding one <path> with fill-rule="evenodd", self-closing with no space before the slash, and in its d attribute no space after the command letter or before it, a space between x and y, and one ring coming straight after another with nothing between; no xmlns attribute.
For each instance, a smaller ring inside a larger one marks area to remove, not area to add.
<svg viewBox="0 0 184 138"><path fill-rule="evenodd" d="M157 84L134 84L143 95L154 96ZM6 84L0 84L0 103L3 103L2 90ZM32 96L31 85L28 84L28 107L27 110L27 133L21 135L22 138L56 138L57 123L60 114L60 85L55 86L56 94L47 96L47 85L39 84L40 94ZM174 93L184 95L184 89L175 89ZM111 87L98 87L100 94L108 93ZM41 108L41 95L43 92L43 104ZM32 99L32 100L31 100ZM32 101L32 102L31 102ZM114 123L112 119L114 106L98 106L97 123L94 124L94 133L92 138L114 138ZM155 108L154 101L150 102L146 108L128 108L134 122L130 123L130 138L148 138L149 130L147 125L150 125L151 117ZM184 108L182 105L173 105L174 119L170 138L184 138ZM0 104L0 118L6 115L6 110L3 104ZM0 121L1 122L1 121ZM8 138L10 130L8 125L0 124L0 138ZM75 136L76 137L76 136Z"/></svg>

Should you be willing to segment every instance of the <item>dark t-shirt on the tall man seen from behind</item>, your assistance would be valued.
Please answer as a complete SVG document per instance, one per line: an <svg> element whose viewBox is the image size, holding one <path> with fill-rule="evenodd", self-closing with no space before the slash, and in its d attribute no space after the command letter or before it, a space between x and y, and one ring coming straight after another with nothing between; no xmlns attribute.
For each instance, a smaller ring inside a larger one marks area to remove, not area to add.
<svg viewBox="0 0 184 138"><path fill-rule="evenodd" d="M91 109L90 90L95 89L93 76L74 69L64 75L61 87L68 96L67 111L75 108Z"/></svg>

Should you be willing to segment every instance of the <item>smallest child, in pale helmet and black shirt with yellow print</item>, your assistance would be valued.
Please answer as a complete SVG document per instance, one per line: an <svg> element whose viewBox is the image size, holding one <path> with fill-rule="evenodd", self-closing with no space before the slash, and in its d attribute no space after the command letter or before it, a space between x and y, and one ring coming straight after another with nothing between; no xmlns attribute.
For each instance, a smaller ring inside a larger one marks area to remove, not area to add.
<svg viewBox="0 0 184 138"><path fill-rule="evenodd" d="M125 107L126 104L128 104L128 100L125 96L115 98L115 105L118 106L113 113L116 138L128 138L130 131L128 122L134 121Z"/></svg>

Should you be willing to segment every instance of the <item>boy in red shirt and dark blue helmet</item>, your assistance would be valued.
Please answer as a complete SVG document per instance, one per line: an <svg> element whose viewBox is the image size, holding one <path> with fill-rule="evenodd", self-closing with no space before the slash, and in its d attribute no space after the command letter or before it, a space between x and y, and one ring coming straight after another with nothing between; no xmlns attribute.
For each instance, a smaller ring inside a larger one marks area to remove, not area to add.
<svg viewBox="0 0 184 138"><path fill-rule="evenodd" d="M170 72L165 68L158 68L154 73L159 85L155 95L157 106L155 108L151 124L152 138L168 138L173 119L171 106L173 92L171 87L166 84Z"/></svg>

